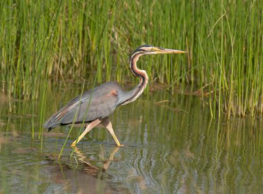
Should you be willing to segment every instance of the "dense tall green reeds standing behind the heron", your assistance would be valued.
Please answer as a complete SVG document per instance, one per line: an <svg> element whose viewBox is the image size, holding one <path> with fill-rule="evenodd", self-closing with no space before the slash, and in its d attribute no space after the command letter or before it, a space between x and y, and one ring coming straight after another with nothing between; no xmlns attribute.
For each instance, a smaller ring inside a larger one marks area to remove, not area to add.
<svg viewBox="0 0 263 194"><path fill-rule="evenodd" d="M188 51L140 60L152 82L182 93L192 85L194 94L208 97L212 116L262 113L262 4L3 0L1 89L9 98L45 101L50 83L94 82L95 74L96 84L125 83L135 80L127 65L131 51L152 44Z"/></svg>

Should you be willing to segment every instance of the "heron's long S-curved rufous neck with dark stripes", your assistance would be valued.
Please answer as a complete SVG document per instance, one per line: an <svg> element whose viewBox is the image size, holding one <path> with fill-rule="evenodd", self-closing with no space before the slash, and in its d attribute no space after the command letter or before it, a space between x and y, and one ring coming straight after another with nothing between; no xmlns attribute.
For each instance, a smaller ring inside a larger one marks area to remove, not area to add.
<svg viewBox="0 0 263 194"><path fill-rule="evenodd" d="M141 55L143 55L143 53L134 53L134 55L131 55L131 58L129 58L129 69L131 70L131 73L134 74L134 76L140 78L140 82L134 89L125 92L121 105L126 105L136 100L141 94L143 94L143 91L147 86L148 75L146 71L140 70L136 66L138 58L140 58Z"/></svg>

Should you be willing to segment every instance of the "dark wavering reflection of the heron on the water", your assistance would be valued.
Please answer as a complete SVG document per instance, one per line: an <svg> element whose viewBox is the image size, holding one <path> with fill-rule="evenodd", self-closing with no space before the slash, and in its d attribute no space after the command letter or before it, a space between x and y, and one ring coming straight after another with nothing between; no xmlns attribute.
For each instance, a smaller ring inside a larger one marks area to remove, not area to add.
<svg viewBox="0 0 263 194"><path fill-rule="evenodd" d="M111 163L118 161L114 157L119 149L120 147L115 147L109 152L102 150L103 155L109 155L109 157L93 160L87 158L87 153L83 153L82 150L75 147L73 148L75 153L73 161L69 160L69 157L57 160L57 157L53 157L53 155L46 156L46 160L52 164L46 168L52 172L53 182L63 184L66 191L74 191L74 193L116 193L114 186L108 181L112 177L107 173L107 170ZM75 165L75 161L78 165ZM125 191L124 186L121 188L122 183L114 181L114 185L118 185L118 191ZM51 189L51 191L54 190Z"/></svg>

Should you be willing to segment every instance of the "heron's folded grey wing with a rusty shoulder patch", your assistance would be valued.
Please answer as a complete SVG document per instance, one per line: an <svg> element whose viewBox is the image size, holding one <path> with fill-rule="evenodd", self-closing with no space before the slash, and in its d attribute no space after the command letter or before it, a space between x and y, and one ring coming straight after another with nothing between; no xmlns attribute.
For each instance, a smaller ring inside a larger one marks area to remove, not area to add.
<svg viewBox="0 0 263 194"><path fill-rule="evenodd" d="M118 86L111 82L73 98L44 124L45 128L69 123L87 123L109 116L116 108Z"/></svg>

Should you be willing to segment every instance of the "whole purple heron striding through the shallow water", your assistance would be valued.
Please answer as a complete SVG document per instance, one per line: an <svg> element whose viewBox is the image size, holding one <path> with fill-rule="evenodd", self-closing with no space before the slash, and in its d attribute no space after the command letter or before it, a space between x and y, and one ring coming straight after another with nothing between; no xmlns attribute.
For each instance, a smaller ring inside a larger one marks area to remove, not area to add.
<svg viewBox="0 0 263 194"><path fill-rule="evenodd" d="M131 91L123 90L116 82L107 82L94 89L84 92L82 95L73 98L60 111L48 118L44 127L51 130L58 125L69 125L71 123L89 123L84 132L71 146L75 146L85 134L93 127L102 123L111 133L120 146L117 136L114 134L109 115L114 112L119 105L126 105L136 100L143 93L148 76L146 71L140 70L136 66L138 58L142 55L152 55L158 53L186 53L185 51L160 48L156 46L143 45L138 47L129 58L129 68L134 76L140 78L140 83Z"/></svg>

